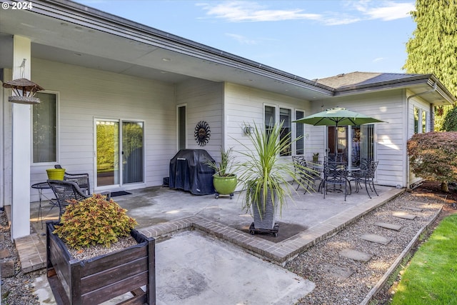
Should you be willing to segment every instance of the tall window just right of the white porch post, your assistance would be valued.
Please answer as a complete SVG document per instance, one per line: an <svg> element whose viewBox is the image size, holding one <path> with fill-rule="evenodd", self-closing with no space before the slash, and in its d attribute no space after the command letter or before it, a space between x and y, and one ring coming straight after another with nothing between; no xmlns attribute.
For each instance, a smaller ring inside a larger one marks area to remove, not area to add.
<svg viewBox="0 0 457 305"><path fill-rule="evenodd" d="M57 161L57 95L37 93L39 104L32 106L33 163Z"/></svg>

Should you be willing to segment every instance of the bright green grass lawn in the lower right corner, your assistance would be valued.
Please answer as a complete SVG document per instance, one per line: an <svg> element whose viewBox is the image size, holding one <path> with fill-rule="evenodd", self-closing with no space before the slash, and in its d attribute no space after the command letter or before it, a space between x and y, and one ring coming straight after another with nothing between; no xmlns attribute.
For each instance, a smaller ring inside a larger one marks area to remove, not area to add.
<svg viewBox="0 0 457 305"><path fill-rule="evenodd" d="M443 219L416 251L391 304L457 304L457 214Z"/></svg>

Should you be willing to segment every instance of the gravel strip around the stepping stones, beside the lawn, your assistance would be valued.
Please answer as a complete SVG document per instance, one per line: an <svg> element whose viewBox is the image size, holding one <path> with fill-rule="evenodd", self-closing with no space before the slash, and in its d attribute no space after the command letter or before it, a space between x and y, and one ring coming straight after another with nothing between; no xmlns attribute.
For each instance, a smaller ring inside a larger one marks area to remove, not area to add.
<svg viewBox="0 0 457 305"><path fill-rule="evenodd" d="M313 281L316 289L298 304L361 304L444 203L445 199L440 196L406 192L300 254L286 268ZM406 209L411 207L422 211ZM397 211L416 215L416 219L394 217ZM402 228L399 231L384 229L376 226L376 222L398 224ZM378 234L391 241L386 245L376 244L361 239L364 234ZM343 249L356 249L372 257L367 262L355 261L341 255Z"/></svg>

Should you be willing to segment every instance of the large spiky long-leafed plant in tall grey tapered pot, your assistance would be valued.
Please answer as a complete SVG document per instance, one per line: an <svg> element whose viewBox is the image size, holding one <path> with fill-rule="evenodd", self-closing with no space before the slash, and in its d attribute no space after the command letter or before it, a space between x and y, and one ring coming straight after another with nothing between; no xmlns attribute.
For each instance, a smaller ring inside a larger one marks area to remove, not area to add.
<svg viewBox="0 0 457 305"><path fill-rule="evenodd" d="M252 208L253 229L273 230L276 211L281 214L286 199L291 198L293 189L289 180L301 186L305 183L301 176L306 168L303 166L296 172L291 160L280 156L291 142L298 140L291 140L291 133L281 137L282 126L283 122L276 123L266 131L254 124L251 145L238 141L244 147L239 154L245 159L237 166L238 179L246 190L243 208L246 211Z"/></svg>

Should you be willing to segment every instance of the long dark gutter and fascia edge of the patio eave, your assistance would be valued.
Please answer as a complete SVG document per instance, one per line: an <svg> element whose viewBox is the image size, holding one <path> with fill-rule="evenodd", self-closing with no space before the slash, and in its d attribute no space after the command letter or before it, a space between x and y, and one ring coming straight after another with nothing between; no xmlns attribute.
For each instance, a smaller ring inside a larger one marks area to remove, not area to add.
<svg viewBox="0 0 457 305"><path fill-rule="evenodd" d="M32 1L34 12L54 19L59 19L71 24L85 26L95 31L120 36L125 39L149 44L168 51L174 51L196 59L209 61L213 64L223 65L232 69L238 69L250 74L255 74L271 81L288 84L296 87L296 91L311 91L317 96L333 96L331 87L316 84L314 81L305 79L285 71L274 69L271 66L260 64L256 61L244 59L241 56L199 44L180 36L169 34L159 29L154 29L144 24L139 24L128 19L121 18L104 11L77 4L66 0ZM256 86L256 84L251 84ZM308 95L311 95L308 93Z"/></svg>

